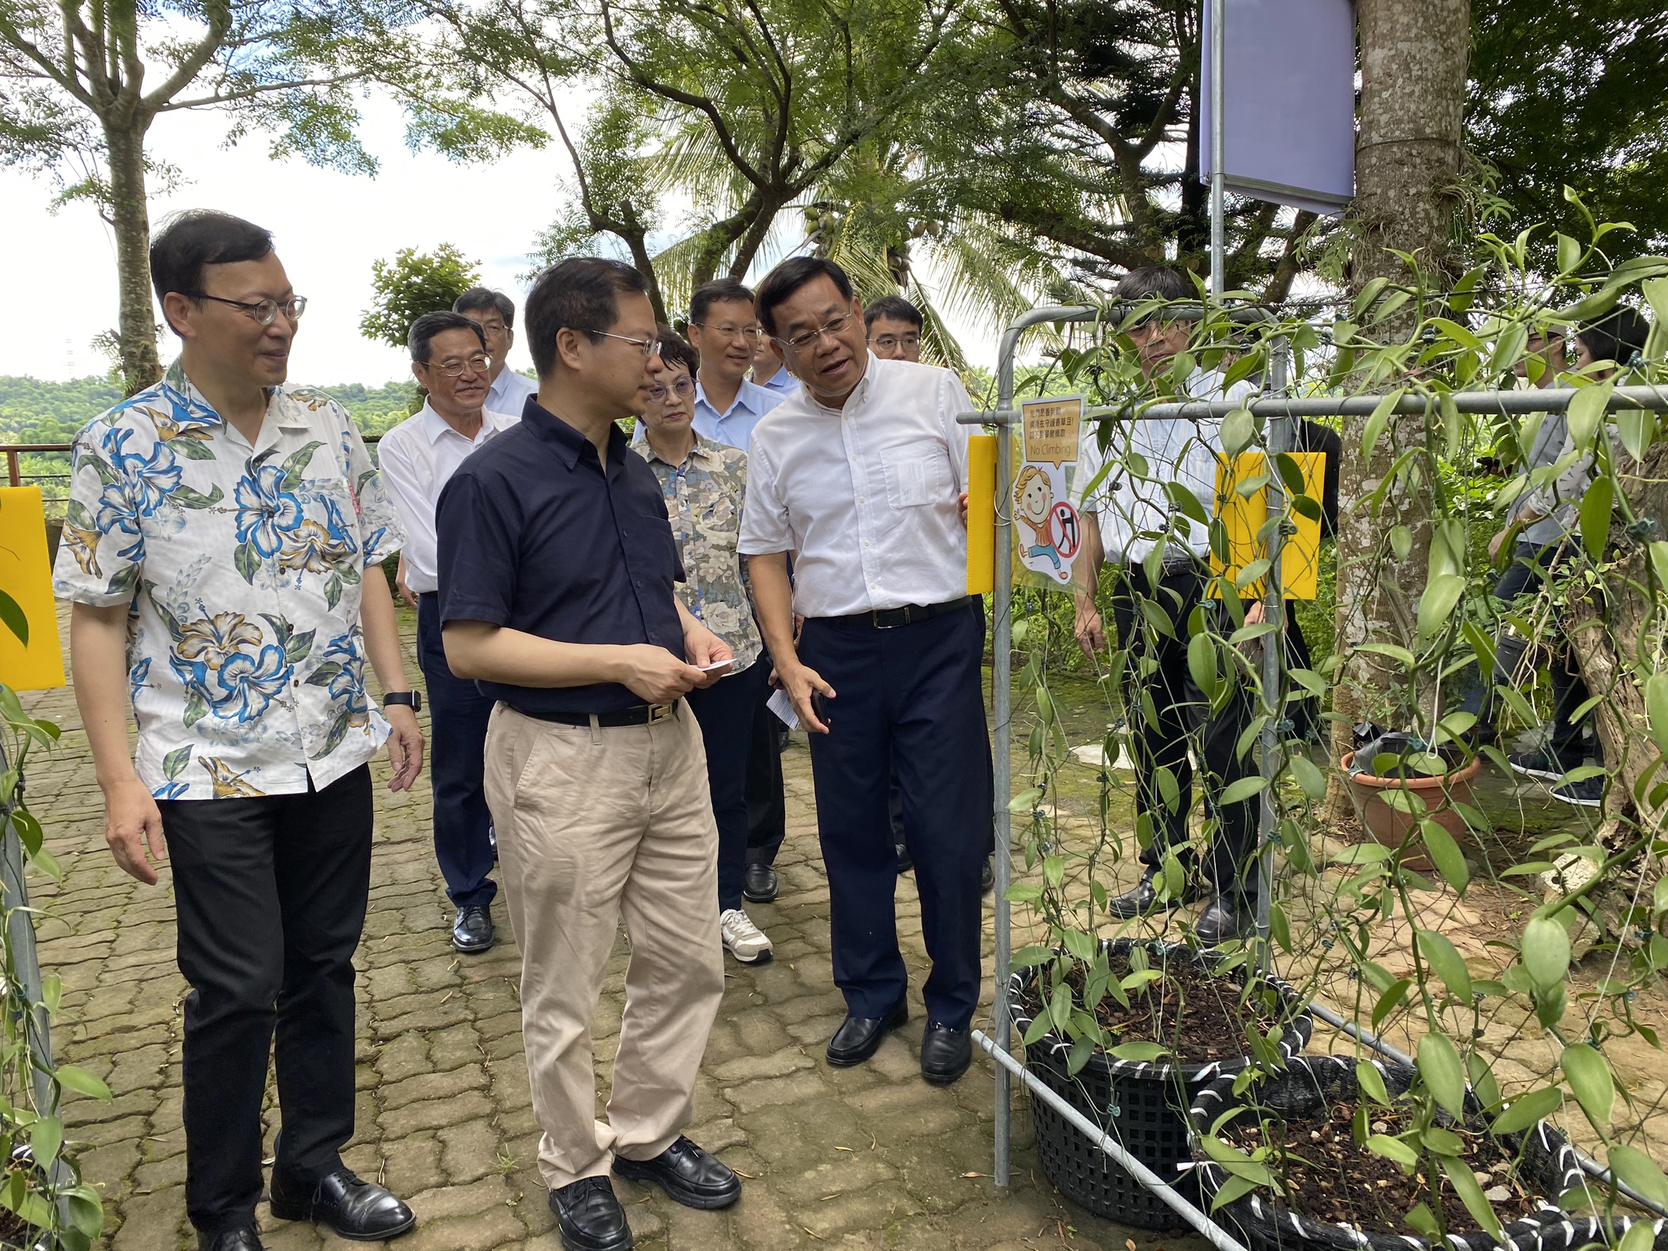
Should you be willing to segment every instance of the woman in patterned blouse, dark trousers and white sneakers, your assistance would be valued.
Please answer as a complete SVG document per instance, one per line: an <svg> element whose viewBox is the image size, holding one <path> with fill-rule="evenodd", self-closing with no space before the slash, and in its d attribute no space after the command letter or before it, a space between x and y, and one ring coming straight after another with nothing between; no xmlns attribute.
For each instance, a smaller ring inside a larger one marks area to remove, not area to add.
<svg viewBox="0 0 1668 1251"><path fill-rule="evenodd" d="M747 494L747 454L696 434L696 350L672 330L659 334L666 372L649 389L644 437L634 444L649 462L677 539L686 582L684 607L736 652L731 672L686 699L701 722L707 784L719 826L719 931L724 949L742 964L771 959L771 939L742 911L747 874L747 752L752 719L769 664L752 620L752 597L736 554L741 502Z"/></svg>

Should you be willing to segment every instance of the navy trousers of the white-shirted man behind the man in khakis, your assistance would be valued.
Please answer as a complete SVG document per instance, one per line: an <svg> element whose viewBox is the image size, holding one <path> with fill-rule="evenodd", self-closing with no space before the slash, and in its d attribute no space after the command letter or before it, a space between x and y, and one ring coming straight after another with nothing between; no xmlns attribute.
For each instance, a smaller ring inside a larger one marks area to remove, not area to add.
<svg viewBox="0 0 1668 1251"><path fill-rule="evenodd" d="M434 789L434 857L454 907L485 907L492 881L492 814L482 784L494 701L454 677L440 646L440 599L417 600L417 662L429 687L429 786Z"/></svg>

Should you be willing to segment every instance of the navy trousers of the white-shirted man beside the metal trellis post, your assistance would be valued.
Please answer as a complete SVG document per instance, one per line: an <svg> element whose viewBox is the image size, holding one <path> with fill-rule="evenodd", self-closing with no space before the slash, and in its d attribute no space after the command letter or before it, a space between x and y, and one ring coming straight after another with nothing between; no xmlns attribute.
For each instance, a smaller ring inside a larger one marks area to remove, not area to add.
<svg viewBox="0 0 1668 1251"><path fill-rule="evenodd" d="M837 692L811 736L817 834L829 874L834 982L852 1016L886 1016L909 987L897 949L896 762L932 972L927 1019L966 1029L979 1002L979 869L991 832L991 754L971 609L876 629L806 622L799 657Z"/></svg>

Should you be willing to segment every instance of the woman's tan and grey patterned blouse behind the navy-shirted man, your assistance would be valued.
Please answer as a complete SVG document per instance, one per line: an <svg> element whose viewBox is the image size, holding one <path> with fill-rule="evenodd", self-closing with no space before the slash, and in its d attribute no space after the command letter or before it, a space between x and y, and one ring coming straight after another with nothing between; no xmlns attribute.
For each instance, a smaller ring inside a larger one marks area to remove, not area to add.
<svg viewBox="0 0 1668 1251"><path fill-rule="evenodd" d="M764 649L736 554L741 505L747 495L747 454L699 434L681 465L662 460L647 442L637 444L637 454L649 462L666 495L666 515L686 574L679 597L702 626L731 646L736 652L731 672L739 674Z"/></svg>

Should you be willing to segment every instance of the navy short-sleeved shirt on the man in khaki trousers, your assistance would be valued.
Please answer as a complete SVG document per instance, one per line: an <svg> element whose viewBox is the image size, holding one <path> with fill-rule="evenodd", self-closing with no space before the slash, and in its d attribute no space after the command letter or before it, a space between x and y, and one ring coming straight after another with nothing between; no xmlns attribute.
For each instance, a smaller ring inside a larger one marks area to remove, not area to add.
<svg viewBox="0 0 1668 1251"><path fill-rule="evenodd" d="M654 644L684 659L672 597L684 580L666 499L619 427L607 470L579 430L527 400L519 425L474 452L435 509L440 620L484 620L574 644ZM617 682L477 682L532 716L642 704Z"/></svg>

